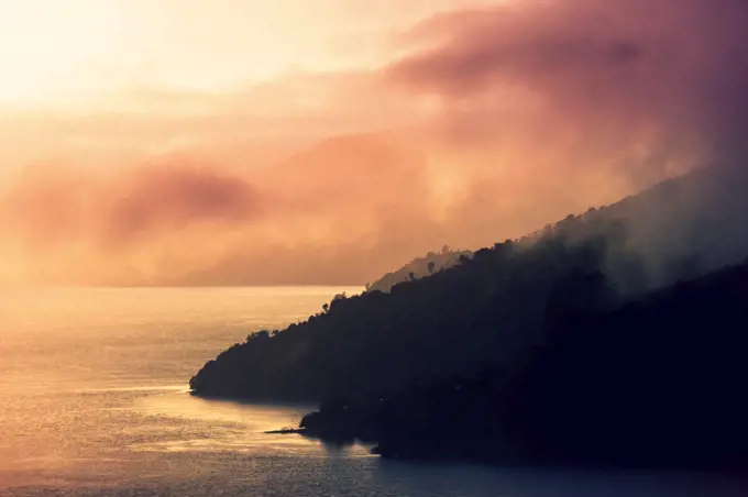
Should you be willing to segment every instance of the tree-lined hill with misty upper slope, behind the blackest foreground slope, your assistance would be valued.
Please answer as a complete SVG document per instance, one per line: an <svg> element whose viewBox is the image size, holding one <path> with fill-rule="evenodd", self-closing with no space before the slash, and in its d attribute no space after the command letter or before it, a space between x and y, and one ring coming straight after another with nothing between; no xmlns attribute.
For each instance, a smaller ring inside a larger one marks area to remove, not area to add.
<svg viewBox="0 0 748 497"><path fill-rule="evenodd" d="M614 206L498 243L389 294L336 298L278 333L257 333L191 379L198 395L276 400L365 396L486 364L518 367L548 321L605 310L748 254L737 169L698 170Z"/></svg>

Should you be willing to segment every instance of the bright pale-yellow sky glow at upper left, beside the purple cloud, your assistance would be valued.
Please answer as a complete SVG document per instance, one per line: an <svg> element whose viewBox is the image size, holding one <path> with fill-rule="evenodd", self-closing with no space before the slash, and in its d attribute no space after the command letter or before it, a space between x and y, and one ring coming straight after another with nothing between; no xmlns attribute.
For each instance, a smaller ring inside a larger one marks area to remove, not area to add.
<svg viewBox="0 0 748 497"><path fill-rule="evenodd" d="M0 0L0 103L375 67L417 20L485 1Z"/></svg>

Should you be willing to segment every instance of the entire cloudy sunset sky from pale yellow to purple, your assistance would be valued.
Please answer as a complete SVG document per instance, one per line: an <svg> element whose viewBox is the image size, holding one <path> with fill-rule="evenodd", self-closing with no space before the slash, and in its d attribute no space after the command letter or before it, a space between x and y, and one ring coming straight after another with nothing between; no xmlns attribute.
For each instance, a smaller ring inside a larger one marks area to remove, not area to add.
<svg viewBox="0 0 748 497"><path fill-rule="evenodd" d="M0 0L0 284L361 284L745 157L741 0Z"/></svg>

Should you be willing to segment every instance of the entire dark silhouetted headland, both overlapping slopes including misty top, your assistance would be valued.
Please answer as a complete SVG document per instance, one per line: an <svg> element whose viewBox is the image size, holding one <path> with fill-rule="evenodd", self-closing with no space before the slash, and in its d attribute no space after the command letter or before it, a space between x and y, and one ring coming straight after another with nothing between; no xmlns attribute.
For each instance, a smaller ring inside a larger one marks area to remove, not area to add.
<svg viewBox="0 0 748 497"><path fill-rule="evenodd" d="M190 386L321 401L304 430L387 456L734 463L746 267L704 275L748 254L747 179L696 170L389 292L337 296Z"/></svg>

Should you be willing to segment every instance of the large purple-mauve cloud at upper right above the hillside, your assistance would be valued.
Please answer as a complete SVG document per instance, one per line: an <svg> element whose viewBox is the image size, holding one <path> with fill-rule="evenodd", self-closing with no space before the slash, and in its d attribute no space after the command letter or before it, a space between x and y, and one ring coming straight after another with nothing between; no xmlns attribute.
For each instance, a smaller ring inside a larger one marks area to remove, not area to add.
<svg viewBox="0 0 748 497"><path fill-rule="evenodd" d="M388 75L437 95L454 134L647 173L745 152L746 22L740 0L507 2L420 23Z"/></svg>

